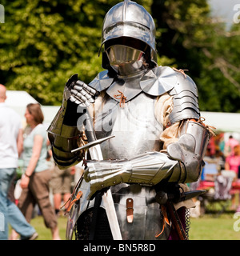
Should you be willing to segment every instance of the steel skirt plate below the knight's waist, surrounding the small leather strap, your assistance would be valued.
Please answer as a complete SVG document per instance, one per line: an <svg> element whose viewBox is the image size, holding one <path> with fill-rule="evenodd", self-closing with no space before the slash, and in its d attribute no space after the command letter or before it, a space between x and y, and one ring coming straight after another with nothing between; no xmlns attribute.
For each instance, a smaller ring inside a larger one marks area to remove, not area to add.
<svg viewBox="0 0 240 256"><path fill-rule="evenodd" d="M164 223L162 211L155 201L155 190L152 187L132 184L119 184L112 187L116 213L123 240L166 240L170 227ZM126 201L134 202L133 222L127 222ZM164 228L163 228L164 226ZM162 229L164 232L160 236Z"/></svg>

